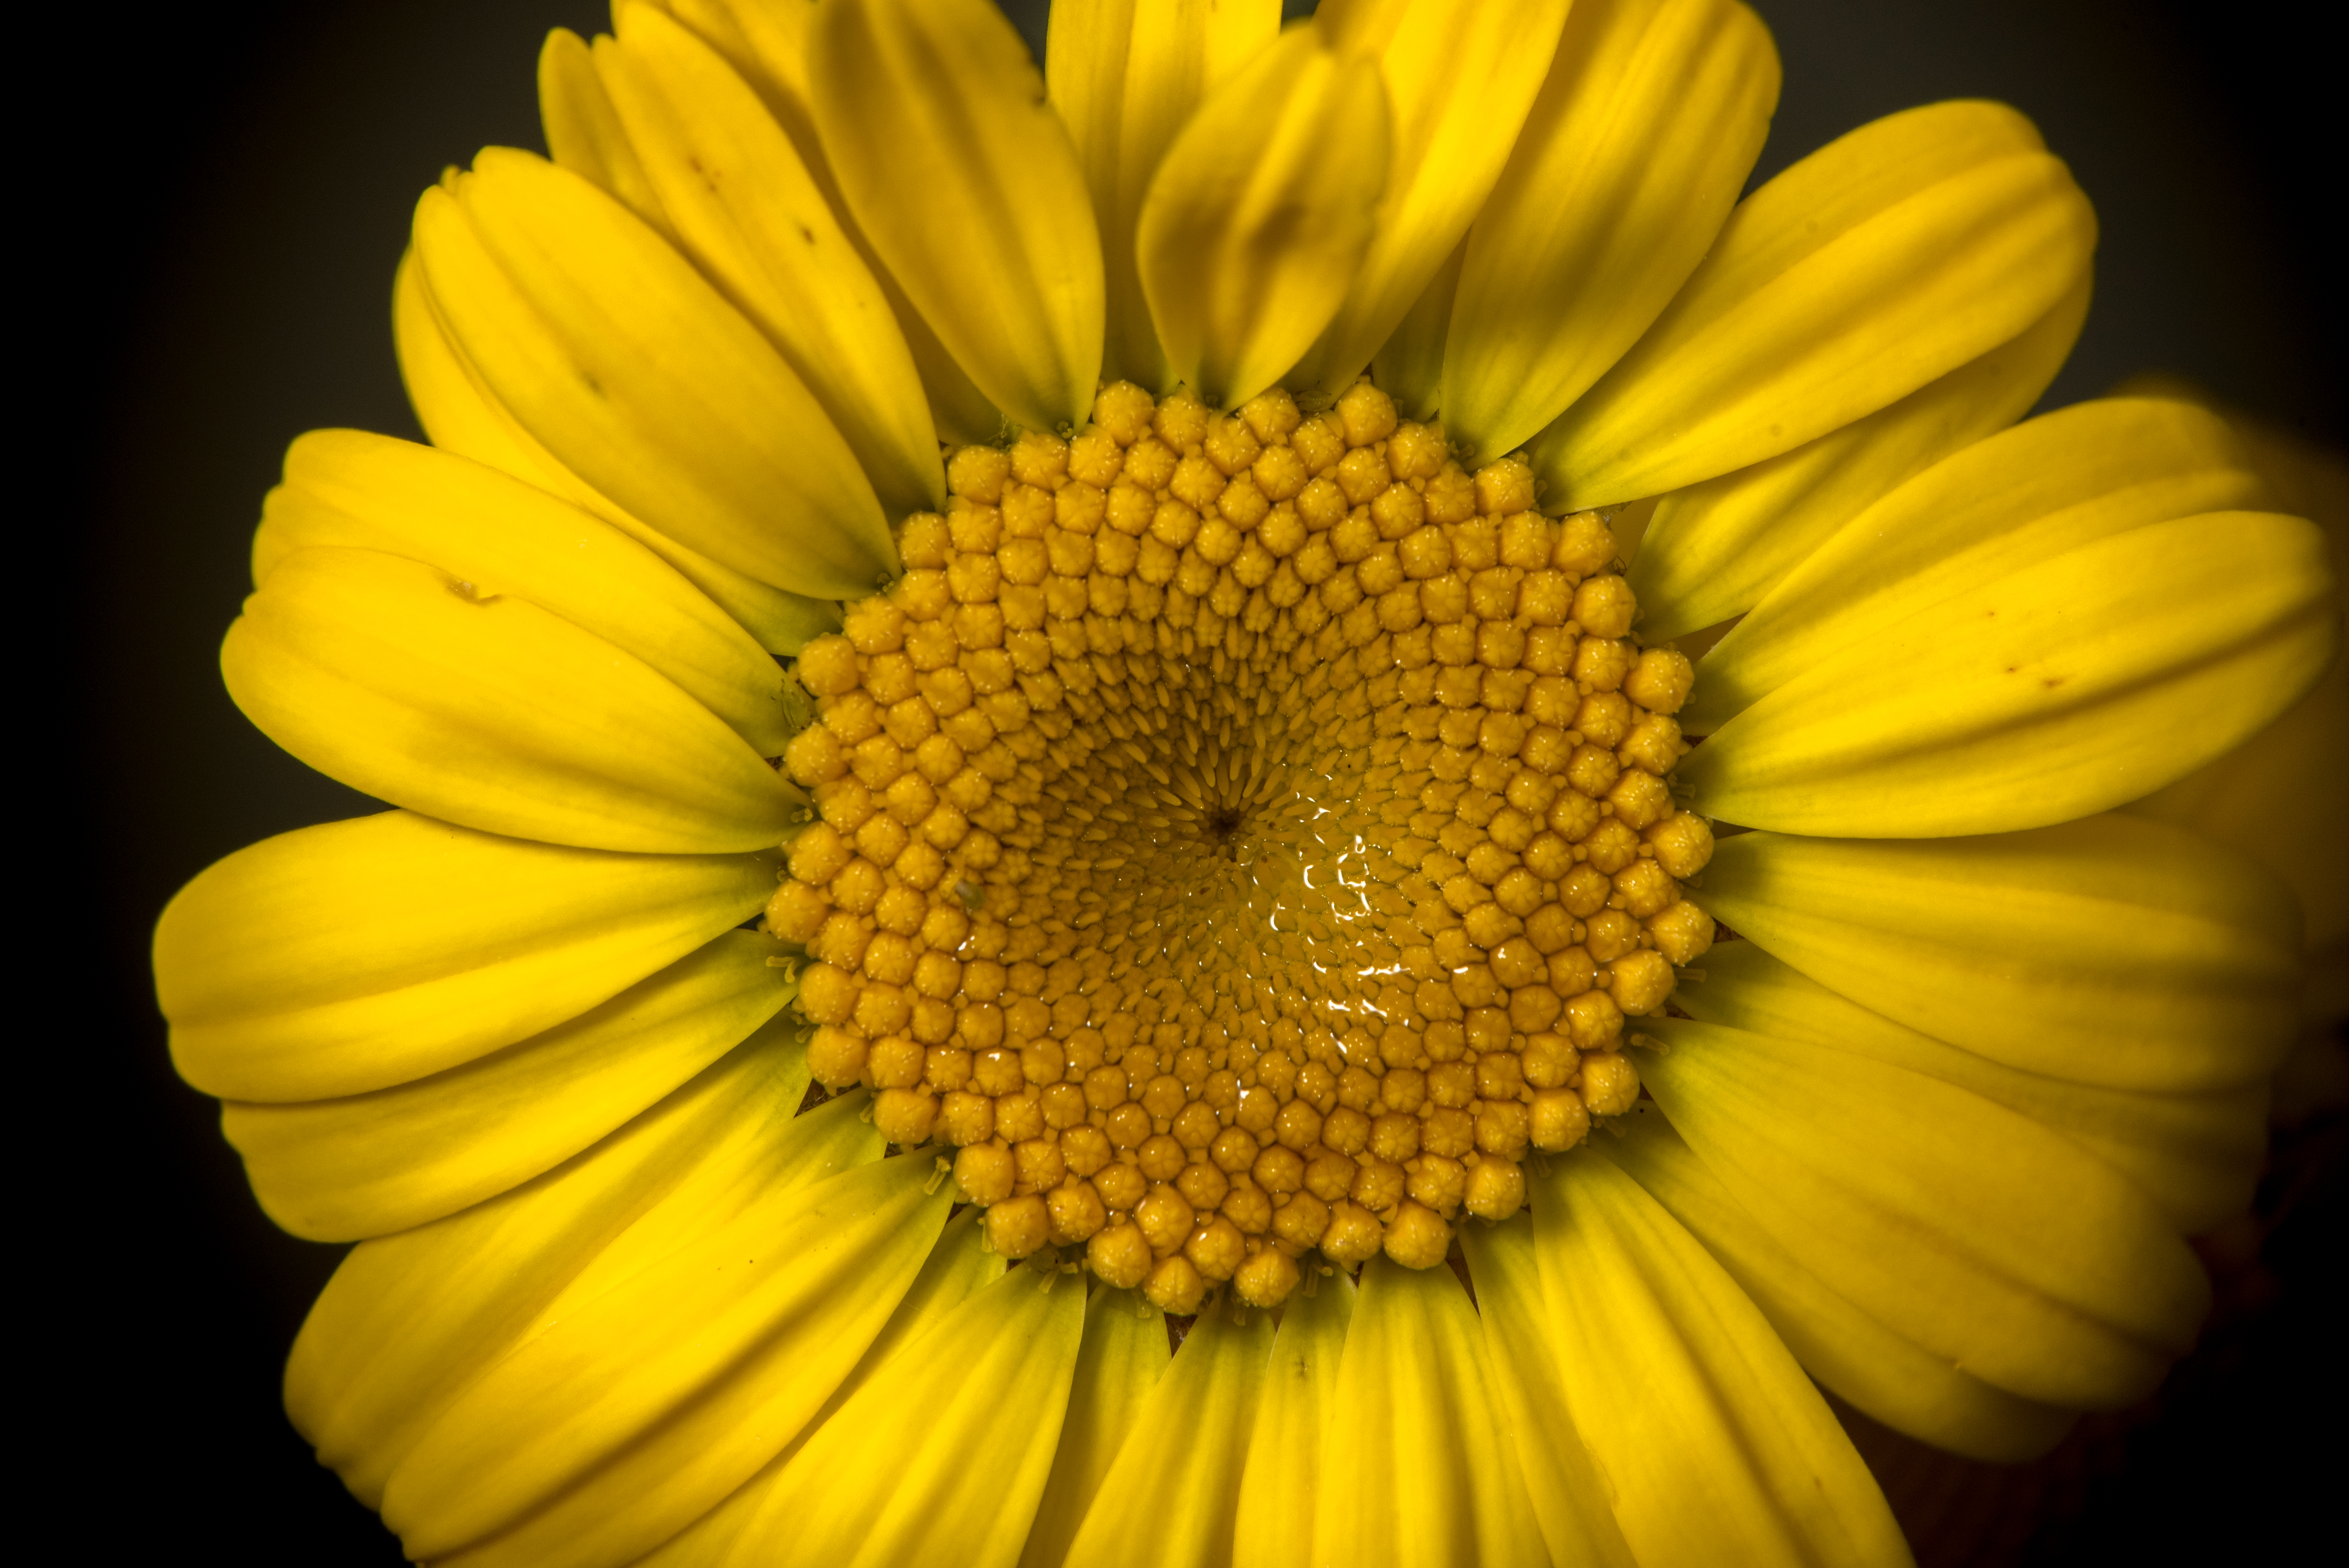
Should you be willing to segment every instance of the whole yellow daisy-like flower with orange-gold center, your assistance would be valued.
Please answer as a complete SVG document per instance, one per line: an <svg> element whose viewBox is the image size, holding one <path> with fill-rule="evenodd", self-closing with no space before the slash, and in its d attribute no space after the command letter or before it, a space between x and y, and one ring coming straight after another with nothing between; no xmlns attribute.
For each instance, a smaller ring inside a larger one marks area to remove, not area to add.
<svg viewBox="0 0 2349 1568"><path fill-rule="evenodd" d="M1738 202L1734 0L615 9L223 648L402 810L155 941L411 1556L1900 1561L1811 1378L2154 1387L2300 927L2114 807L2337 599L2217 415L2015 423L2022 117Z"/></svg>

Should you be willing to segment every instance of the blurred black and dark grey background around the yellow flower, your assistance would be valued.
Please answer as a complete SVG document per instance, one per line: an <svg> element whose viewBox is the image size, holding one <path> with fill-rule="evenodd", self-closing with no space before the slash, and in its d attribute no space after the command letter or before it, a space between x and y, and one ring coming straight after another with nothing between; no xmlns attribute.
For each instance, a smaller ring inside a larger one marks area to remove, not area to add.
<svg viewBox="0 0 2349 1568"><path fill-rule="evenodd" d="M1012 9L1041 47L1043 7ZM2072 162L2102 249L2051 404L2166 369L2342 444L2337 49L2297 7L1757 9L1785 59L1757 176L1966 94L2020 106ZM146 939L211 859L371 805L221 692L244 545L298 432L416 434L388 310L416 192L484 143L540 146L538 42L557 23L599 31L604 9L230 0L80 16L16 33L16 101L47 106L16 141L33 376L9 458L35 556L16 580L16 707L54 735L16 763L54 793L19 807L16 831L19 887L40 906L14 1045L31 1066L19 1357L61 1394L19 1441L85 1493L45 1483L19 1507L75 1521L73 1561L392 1563L392 1537L277 1408L284 1350L341 1249L294 1242L251 1204L214 1103L169 1070ZM1926 1561L2295 1556L2340 1486L2337 1145L2337 1124L2314 1145L2302 1134L2269 1223L2222 1258L2227 1324L2161 1404L2025 1476L1933 1472L1931 1505L1903 1479L1914 1455L1870 1439Z"/></svg>

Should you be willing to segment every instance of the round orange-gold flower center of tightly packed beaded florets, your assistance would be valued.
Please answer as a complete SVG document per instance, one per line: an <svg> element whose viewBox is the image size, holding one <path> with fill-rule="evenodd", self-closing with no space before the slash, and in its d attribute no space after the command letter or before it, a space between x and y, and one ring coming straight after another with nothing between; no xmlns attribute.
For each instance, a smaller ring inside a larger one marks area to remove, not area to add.
<svg viewBox="0 0 2349 1568"><path fill-rule="evenodd" d="M1633 1106L1712 836L1597 514L1367 380L1313 418L1118 383L947 477L801 655L822 819L768 925L815 1077L956 1145L998 1251L1273 1305L1315 1249L1433 1268Z"/></svg>

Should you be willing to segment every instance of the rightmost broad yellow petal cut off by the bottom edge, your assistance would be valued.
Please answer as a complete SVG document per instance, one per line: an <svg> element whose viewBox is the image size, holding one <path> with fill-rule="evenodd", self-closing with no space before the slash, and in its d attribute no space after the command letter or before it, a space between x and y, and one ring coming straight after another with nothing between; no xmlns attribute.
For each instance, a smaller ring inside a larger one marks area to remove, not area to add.
<svg viewBox="0 0 2349 1568"><path fill-rule="evenodd" d="M1532 1209L1567 1408L1642 1568L1910 1561L1818 1390L1640 1183L1583 1150Z"/></svg>

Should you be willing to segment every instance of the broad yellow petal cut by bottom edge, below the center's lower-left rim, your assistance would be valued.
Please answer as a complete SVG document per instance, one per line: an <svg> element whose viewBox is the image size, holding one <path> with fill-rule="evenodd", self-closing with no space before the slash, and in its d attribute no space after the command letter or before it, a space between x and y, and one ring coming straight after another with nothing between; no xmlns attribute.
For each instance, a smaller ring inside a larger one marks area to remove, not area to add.
<svg viewBox="0 0 2349 1568"><path fill-rule="evenodd" d="M1083 1326L1083 1282L1003 1275L806 1441L731 1561L1010 1568L1052 1469Z"/></svg>

